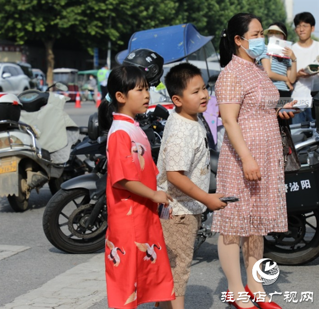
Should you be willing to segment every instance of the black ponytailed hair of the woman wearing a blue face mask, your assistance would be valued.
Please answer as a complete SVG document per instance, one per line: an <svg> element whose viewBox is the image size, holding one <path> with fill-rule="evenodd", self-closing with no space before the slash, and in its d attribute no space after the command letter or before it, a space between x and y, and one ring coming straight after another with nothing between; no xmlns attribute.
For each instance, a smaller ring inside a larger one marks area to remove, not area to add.
<svg viewBox="0 0 319 309"><path fill-rule="evenodd" d="M236 54L235 36L244 36L253 19L257 19L263 24L259 17L250 13L238 13L229 19L227 29L224 29L220 35L219 53L221 67L225 67L230 62L233 54Z"/></svg>

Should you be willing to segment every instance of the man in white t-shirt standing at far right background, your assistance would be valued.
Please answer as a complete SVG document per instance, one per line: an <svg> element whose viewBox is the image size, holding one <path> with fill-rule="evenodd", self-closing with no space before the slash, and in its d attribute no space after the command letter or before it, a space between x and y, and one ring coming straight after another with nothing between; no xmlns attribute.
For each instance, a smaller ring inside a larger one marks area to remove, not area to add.
<svg viewBox="0 0 319 309"><path fill-rule="evenodd" d="M319 42L311 38L311 34L315 31L315 18L312 13L299 13L294 18L295 31L299 37L299 41L292 46L297 57L297 82L294 85L293 98L312 100L311 85L318 74L310 75L305 72L305 68L317 63L316 58L319 55ZM292 119L293 123L300 123L302 121L314 120L311 115L311 108L306 108L304 112L296 114Z"/></svg>

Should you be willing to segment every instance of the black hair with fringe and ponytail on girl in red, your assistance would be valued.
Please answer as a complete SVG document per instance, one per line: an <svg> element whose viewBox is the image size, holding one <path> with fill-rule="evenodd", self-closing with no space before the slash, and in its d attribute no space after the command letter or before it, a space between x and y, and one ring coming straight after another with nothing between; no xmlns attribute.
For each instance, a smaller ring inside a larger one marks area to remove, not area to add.
<svg viewBox="0 0 319 309"><path fill-rule="evenodd" d="M108 78L108 94L112 102L103 99L98 108L99 128L103 131L110 129L113 121L113 112L118 111L117 92L127 95L135 87L147 87L149 83L145 73L135 66L118 66L113 69Z"/></svg>

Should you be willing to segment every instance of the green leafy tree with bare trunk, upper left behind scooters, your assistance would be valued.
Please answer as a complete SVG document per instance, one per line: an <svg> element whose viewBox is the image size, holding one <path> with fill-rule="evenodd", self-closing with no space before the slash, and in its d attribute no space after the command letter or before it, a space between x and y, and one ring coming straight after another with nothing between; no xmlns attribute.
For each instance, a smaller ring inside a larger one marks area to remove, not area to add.
<svg viewBox="0 0 319 309"><path fill-rule="evenodd" d="M46 50L47 80L52 82L54 42L76 37L83 46L121 44L121 34L136 24L134 0L0 0L0 37L16 44L41 40ZM121 16L119 18L118 16ZM121 20L125 22L121 22Z"/></svg>

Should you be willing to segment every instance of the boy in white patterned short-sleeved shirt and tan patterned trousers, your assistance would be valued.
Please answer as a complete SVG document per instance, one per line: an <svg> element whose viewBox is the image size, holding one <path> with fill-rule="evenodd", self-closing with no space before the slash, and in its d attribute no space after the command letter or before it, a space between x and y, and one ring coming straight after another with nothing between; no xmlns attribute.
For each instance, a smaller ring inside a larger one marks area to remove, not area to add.
<svg viewBox="0 0 319 309"><path fill-rule="evenodd" d="M200 70L180 63L165 77L175 105L168 117L158 159L158 190L173 198L172 219L161 220L176 300L160 303L161 309L183 309L194 243L201 213L224 208L221 194L208 194L210 157L206 130L197 113L204 112L208 91Z"/></svg>

